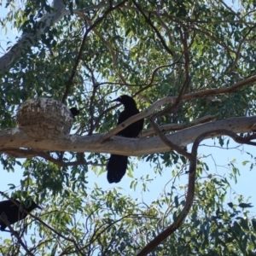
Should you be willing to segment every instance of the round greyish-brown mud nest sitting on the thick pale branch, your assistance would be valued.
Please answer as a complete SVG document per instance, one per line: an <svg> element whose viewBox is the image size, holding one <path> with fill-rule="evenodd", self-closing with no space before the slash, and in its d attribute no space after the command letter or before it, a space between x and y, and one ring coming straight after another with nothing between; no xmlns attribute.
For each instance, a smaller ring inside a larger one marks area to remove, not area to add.
<svg viewBox="0 0 256 256"><path fill-rule="evenodd" d="M38 98L20 105L16 123L31 137L56 139L68 136L73 125L73 116L61 102Z"/></svg>

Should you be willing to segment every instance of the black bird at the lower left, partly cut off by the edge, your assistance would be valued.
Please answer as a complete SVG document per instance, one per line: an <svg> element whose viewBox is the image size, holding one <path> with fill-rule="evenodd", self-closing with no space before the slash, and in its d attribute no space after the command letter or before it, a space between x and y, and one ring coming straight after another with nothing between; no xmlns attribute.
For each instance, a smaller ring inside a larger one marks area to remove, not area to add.
<svg viewBox="0 0 256 256"><path fill-rule="evenodd" d="M19 207L14 203L14 201L17 202ZM6 218L9 221L9 224L15 224L20 219L26 218L27 216L26 212L31 212L35 208L39 208L42 210L42 208L39 207L34 201L30 201L29 207L25 207L25 206L20 207L20 201L17 201L17 200L14 200L14 201L11 201L11 200L0 201L1 218L3 218L2 213L4 213L6 215ZM22 209L25 209L26 212L22 211ZM9 232L8 230L5 230L7 225L4 224L2 219L0 219L0 226L1 226L0 227L1 231Z"/></svg>

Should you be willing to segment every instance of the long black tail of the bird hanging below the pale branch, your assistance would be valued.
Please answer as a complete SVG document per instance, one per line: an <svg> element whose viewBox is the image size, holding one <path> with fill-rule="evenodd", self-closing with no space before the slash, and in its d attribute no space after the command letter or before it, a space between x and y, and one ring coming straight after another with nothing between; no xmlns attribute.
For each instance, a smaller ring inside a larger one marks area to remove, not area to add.
<svg viewBox="0 0 256 256"><path fill-rule="evenodd" d="M128 156L111 154L107 165L107 178L109 183L119 183L125 175Z"/></svg>

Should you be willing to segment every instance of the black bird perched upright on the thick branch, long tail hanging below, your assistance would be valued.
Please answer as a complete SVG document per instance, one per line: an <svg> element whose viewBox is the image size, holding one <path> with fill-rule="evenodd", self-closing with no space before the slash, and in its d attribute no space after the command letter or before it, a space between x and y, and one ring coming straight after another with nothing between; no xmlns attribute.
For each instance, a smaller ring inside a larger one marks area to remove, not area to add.
<svg viewBox="0 0 256 256"><path fill-rule="evenodd" d="M121 102L125 106L125 110L119 114L118 125L129 119L131 116L139 113L136 102L131 96L119 96L112 102ZM123 137L137 137L140 131L143 130L143 119L127 126L124 130L119 131L117 135ZM119 183L121 178L125 175L127 168L128 156L111 154L107 165L107 178L109 183Z"/></svg>

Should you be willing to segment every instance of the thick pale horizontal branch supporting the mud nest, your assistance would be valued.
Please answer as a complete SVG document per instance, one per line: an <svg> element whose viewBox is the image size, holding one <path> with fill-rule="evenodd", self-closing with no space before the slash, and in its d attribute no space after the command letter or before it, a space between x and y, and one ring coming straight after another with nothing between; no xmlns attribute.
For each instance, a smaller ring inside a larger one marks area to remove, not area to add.
<svg viewBox="0 0 256 256"><path fill-rule="evenodd" d="M180 147L193 143L196 137L199 137L206 131L226 129L236 133L246 133L255 131L256 116L238 117L232 119L218 120L215 122L195 125L182 131L166 135L166 137ZM102 142L104 134L95 134L92 136L71 135L67 139L60 140L38 140L29 137L21 129L7 129L0 131L0 151L4 148L34 148L48 151L69 151L69 152L95 152L124 155L143 155L170 151L159 137L148 138L125 138L112 137L105 143ZM209 137L218 137L214 134Z"/></svg>

